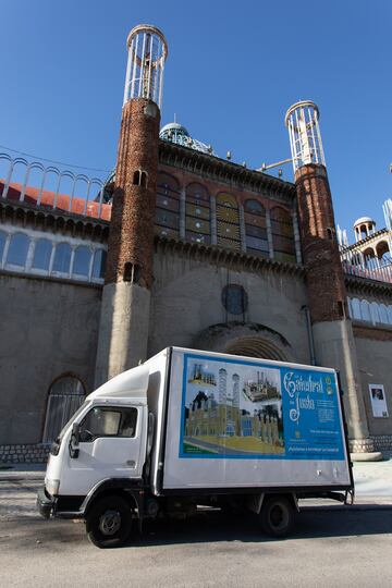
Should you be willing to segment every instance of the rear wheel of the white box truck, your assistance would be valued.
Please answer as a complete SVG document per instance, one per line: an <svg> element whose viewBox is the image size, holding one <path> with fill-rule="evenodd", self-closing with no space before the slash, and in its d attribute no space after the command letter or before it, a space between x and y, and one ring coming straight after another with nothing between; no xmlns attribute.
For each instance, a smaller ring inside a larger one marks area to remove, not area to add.
<svg viewBox="0 0 392 588"><path fill-rule="evenodd" d="M286 537L294 528L294 509L286 497L270 495L260 512L262 530L271 537Z"/></svg>

